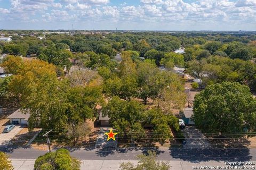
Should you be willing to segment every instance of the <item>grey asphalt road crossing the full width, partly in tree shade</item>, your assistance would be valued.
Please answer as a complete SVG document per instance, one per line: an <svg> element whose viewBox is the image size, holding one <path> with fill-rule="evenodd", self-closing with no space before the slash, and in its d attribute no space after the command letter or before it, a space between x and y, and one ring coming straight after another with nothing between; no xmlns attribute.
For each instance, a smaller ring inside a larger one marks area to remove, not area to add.
<svg viewBox="0 0 256 170"><path fill-rule="evenodd" d="M136 160L136 156L154 150L158 160L184 160L189 162L201 161L256 161L256 149L233 148L233 149L199 149L199 148L171 148L171 149L87 149L71 148L71 155L78 159L86 160ZM34 148L14 148L0 146L0 151L6 152L13 159L35 159L44 155L47 150Z"/></svg>

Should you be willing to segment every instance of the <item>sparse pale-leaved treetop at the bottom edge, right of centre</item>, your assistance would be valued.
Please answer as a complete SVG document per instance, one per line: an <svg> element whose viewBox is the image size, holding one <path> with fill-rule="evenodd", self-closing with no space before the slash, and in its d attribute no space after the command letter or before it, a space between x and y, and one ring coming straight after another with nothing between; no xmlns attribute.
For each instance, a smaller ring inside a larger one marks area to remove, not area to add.
<svg viewBox="0 0 256 170"><path fill-rule="evenodd" d="M137 166L132 163L122 163L120 168L122 170L168 170L170 165L166 162L157 162L156 153L153 151L148 151L148 155L139 155L139 163Z"/></svg>

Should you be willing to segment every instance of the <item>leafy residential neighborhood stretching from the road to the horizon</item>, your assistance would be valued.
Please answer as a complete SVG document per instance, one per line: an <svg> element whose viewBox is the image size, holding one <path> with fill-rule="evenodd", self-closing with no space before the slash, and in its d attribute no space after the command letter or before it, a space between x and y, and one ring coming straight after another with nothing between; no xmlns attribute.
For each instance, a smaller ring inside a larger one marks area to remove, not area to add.
<svg viewBox="0 0 256 170"><path fill-rule="evenodd" d="M0 32L0 146L49 151L35 169L79 169L70 148L256 147L255 32Z"/></svg>

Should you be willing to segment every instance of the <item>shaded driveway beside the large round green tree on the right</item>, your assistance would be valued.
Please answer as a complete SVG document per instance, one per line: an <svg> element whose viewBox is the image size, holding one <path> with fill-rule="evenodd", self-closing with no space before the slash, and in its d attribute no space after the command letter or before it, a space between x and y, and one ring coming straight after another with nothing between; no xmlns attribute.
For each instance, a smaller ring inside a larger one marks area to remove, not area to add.
<svg viewBox="0 0 256 170"><path fill-rule="evenodd" d="M186 126L182 130L185 132L186 144L183 148L212 148L207 138L194 126Z"/></svg>

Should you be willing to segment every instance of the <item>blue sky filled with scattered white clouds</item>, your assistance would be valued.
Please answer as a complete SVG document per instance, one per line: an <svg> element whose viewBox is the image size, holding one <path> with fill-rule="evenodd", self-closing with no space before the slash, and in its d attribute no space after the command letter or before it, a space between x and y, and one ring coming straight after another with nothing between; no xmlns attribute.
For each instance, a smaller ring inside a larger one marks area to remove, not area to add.
<svg viewBox="0 0 256 170"><path fill-rule="evenodd" d="M72 28L254 31L256 0L0 0L0 29Z"/></svg>

